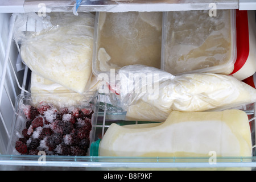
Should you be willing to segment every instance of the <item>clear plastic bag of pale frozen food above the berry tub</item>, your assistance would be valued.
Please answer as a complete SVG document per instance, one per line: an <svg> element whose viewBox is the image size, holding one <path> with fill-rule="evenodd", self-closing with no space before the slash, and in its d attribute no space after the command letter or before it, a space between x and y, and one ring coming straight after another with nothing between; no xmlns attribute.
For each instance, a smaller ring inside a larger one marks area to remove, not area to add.
<svg viewBox="0 0 256 182"><path fill-rule="evenodd" d="M14 38L24 64L39 76L83 93L92 75L94 15L15 15Z"/></svg>

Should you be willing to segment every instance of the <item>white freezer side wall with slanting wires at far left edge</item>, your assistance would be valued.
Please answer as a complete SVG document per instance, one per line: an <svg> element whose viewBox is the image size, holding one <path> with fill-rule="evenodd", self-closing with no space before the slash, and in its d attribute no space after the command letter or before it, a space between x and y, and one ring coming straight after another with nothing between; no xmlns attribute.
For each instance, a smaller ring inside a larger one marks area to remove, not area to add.
<svg viewBox="0 0 256 182"><path fill-rule="evenodd" d="M0 86L0 154L6 154L14 115L15 98L20 93L18 85L22 83L24 75L24 71L16 71L18 49L13 39L10 44L10 54L6 57L10 17L11 14L0 13L0 81L3 82L3 86ZM3 72L5 62L7 62L6 73Z"/></svg>

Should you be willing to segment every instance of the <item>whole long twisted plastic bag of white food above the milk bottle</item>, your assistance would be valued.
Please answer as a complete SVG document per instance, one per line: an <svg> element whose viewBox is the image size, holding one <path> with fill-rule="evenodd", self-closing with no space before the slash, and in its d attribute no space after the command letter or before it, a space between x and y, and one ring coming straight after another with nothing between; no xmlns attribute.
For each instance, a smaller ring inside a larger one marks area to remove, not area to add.
<svg viewBox="0 0 256 182"><path fill-rule="evenodd" d="M143 65L121 68L110 90L127 111L129 120L165 121L171 111L228 109L256 102L256 90L233 76L191 73L173 76ZM105 81L102 81L105 84ZM100 87L101 88L101 87ZM152 119L151 119L152 118Z"/></svg>

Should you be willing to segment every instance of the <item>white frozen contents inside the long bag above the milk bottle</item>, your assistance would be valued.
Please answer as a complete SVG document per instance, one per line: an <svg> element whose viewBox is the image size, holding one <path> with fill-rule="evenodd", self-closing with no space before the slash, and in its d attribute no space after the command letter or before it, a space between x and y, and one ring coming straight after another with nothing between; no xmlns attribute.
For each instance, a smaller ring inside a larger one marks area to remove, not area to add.
<svg viewBox="0 0 256 182"><path fill-rule="evenodd" d="M159 113L158 121L164 121L166 115L173 110L205 111L256 102L256 90L232 76L213 73L188 74L162 82L159 84L158 98L148 100L148 95L144 94L141 101L151 107L146 111L142 102L131 104L127 109L128 118L143 121L151 117L154 119L153 113L161 111L160 113L166 114Z"/></svg>

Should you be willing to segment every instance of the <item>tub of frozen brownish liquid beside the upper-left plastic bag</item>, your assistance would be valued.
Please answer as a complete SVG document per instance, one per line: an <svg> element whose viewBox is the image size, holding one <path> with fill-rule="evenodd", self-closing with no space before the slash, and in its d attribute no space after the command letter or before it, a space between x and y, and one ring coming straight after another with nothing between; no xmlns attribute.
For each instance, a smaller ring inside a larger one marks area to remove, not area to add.
<svg viewBox="0 0 256 182"><path fill-rule="evenodd" d="M162 12L96 13L93 73L126 65L160 68Z"/></svg>

